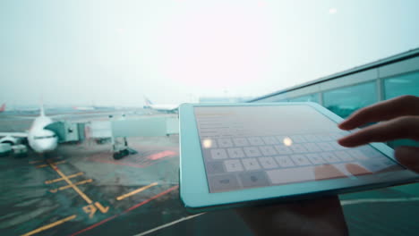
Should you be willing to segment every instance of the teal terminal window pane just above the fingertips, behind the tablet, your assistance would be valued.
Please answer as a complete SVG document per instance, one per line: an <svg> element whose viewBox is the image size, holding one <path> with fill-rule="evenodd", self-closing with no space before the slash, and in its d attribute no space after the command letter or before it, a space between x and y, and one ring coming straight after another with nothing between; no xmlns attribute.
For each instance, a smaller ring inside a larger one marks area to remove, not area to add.
<svg viewBox="0 0 419 236"><path fill-rule="evenodd" d="M359 108L377 102L375 82L324 92L324 106L339 116L346 118Z"/></svg>

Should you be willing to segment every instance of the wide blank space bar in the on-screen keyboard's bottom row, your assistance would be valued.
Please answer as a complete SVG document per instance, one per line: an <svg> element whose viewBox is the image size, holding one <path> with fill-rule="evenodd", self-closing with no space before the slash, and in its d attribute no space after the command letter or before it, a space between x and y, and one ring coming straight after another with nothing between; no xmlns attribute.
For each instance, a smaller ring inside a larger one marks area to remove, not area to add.
<svg viewBox="0 0 419 236"><path fill-rule="evenodd" d="M299 168L275 169L266 171L269 180L273 184L284 184L301 181L314 181L313 166L304 166Z"/></svg>

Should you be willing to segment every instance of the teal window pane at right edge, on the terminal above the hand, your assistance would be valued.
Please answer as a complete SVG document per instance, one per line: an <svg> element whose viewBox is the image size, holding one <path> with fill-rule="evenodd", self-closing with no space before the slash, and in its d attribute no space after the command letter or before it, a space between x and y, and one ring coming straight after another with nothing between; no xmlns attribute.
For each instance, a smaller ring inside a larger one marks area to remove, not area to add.
<svg viewBox="0 0 419 236"><path fill-rule="evenodd" d="M402 95L419 96L419 72L398 75L384 80L385 99Z"/></svg>

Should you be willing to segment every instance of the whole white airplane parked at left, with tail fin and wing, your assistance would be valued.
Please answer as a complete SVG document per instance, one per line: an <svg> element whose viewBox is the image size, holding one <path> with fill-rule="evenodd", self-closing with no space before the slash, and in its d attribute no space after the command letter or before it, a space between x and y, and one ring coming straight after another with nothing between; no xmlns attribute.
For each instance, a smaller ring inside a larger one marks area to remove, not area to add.
<svg viewBox="0 0 419 236"><path fill-rule="evenodd" d="M30 130L27 132L0 132L0 143L14 145L19 139L28 139L29 146L37 153L46 153L56 149L58 137L54 131L45 129L54 121L45 115L44 107L41 106L40 114L32 122Z"/></svg>

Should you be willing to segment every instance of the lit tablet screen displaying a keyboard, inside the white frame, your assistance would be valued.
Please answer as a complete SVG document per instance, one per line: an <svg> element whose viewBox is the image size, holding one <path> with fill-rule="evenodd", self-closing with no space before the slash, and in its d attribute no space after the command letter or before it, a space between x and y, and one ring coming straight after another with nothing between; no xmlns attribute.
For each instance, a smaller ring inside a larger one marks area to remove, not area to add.
<svg viewBox="0 0 419 236"><path fill-rule="evenodd" d="M310 105L195 106L209 192L353 178L404 169Z"/></svg>

